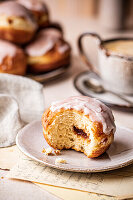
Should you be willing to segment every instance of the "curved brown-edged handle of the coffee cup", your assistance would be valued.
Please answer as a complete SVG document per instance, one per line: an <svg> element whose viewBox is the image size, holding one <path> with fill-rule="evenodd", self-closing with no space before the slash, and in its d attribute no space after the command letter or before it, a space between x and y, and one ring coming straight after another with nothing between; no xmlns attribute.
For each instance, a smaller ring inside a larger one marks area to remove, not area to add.
<svg viewBox="0 0 133 200"><path fill-rule="evenodd" d="M83 41L83 38L86 37L86 36L91 36L91 37L95 37L99 44L101 44L102 42L102 39L100 38L99 35L97 35L96 33L90 33L90 32L85 32L85 33L82 33L79 38L78 38L78 48L79 48L79 52L80 52L80 56L82 58L82 60L88 65L89 69L96 73L97 75L99 75L99 71L97 70L97 68L95 68L92 63L89 61L89 58L87 57L86 53L85 53L85 50L83 48L83 44L82 44L82 41Z"/></svg>

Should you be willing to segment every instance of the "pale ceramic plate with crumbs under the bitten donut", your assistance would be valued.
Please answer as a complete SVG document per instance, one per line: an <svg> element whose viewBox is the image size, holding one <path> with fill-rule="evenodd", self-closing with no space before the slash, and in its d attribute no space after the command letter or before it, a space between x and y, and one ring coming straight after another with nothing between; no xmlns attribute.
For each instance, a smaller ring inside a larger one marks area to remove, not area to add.
<svg viewBox="0 0 133 200"><path fill-rule="evenodd" d="M63 150L59 156L46 156L43 148L49 147L43 137L40 121L25 126L17 135L19 149L28 157L44 165L75 172L101 172L118 169L133 163L133 131L117 127L115 140L102 156L89 159L83 153ZM66 159L67 164L55 165L56 158Z"/></svg>

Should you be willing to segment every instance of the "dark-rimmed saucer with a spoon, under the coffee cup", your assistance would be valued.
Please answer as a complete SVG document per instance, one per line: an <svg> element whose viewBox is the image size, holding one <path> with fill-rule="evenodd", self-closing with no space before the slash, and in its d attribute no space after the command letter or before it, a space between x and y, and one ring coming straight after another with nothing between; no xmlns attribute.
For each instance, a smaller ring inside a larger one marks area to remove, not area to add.
<svg viewBox="0 0 133 200"><path fill-rule="evenodd" d="M87 88L84 84L84 82L89 78L96 78L98 77L89 71L85 71L77 75L74 79L74 86L75 88L83 95L94 97L105 103L106 105L110 106L111 108L127 111L127 112L133 112L133 106L130 106L127 104L124 100L120 99L119 97L109 93L95 93L91 91L89 88ZM127 96L123 95L125 98L133 102L133 96Z"/></svg>

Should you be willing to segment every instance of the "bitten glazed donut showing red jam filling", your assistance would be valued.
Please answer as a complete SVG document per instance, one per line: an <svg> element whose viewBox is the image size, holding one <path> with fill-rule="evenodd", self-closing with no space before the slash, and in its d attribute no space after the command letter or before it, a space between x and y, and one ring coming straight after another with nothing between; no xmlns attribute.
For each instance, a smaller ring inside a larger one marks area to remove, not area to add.
<svg viewBox="0 0 133 200"><path fill-rule="evenodd" d="M88 158L103 154L113 142L114 117L100 101L75 96L54 102L42 116L43 134L54 149L74 149Z"/></svg>

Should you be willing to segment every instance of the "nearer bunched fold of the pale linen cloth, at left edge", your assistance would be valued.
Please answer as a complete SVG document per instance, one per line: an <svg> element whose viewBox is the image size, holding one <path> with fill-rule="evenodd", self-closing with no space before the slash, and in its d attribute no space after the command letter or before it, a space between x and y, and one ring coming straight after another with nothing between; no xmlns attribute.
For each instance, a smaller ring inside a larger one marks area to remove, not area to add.
<svg viewBox="0 0 133 200"><path fill-rule="evenodd" d="M15 143L18 131L24 126L15 99L0 95L0 147Z"/></svg>

